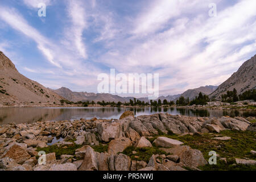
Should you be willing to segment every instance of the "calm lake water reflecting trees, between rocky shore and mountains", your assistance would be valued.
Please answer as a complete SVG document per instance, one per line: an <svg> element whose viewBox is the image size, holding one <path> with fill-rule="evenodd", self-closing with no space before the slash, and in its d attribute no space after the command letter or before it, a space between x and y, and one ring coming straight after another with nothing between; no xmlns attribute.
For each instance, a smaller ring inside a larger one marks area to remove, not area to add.
<svg viewBox="0 0 256 182"><path fill-rule="evenodd" d="M33 123L37 121L61 121L75 119L118 119L126 110L133 110L135 115L149 115L154 113L181 114L196 117L230 117L255 116L256 113L238 110L220 109L179 109L176 107L142 107L139 109L117 108L117 107L4 107L0 108L0 125L7 123Z"/></svg>

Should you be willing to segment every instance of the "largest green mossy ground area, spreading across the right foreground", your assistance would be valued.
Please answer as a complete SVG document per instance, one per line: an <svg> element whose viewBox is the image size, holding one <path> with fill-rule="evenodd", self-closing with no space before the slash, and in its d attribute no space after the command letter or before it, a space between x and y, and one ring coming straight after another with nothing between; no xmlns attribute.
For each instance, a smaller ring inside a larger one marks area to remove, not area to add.
<svg viewBox="0 0 256 182"><path fill-rule="evenodd" d="M230 140L216 140L214 137L231 137ZM256 170L256 166L245 166L245 165L236 165L232 166L235 158L249 158L256 160L256 157L253 156L250 151L256 150L256 138L255 133L251 131L230 131L225 130L221 131L219 134L203 134L203 136L197 135L184 135L178 137L175 134L162 134L155 136L154 138L148 139L150 142L153 142L157 137L164 136L176 140L180 140L186 146L200 150L204 158L208 161L210 158L209 152L216 151L218 155L217 165L206 165L201 167L204 170ZM228 164L218 160L220 158L226 158Z"/></svg>

